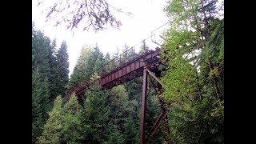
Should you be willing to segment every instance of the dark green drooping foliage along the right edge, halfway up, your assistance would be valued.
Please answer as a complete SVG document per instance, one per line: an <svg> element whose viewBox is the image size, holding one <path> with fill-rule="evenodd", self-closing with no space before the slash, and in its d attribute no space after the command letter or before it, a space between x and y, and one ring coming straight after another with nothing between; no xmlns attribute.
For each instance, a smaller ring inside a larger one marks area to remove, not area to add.
<svg viewBox="0 0 256 144"><path fill-rule="evenodd" d="M215 28L206 49L202 50L201 69L204 82L215 87L215 94L224 97L224 19L214 20Z"/></svg>

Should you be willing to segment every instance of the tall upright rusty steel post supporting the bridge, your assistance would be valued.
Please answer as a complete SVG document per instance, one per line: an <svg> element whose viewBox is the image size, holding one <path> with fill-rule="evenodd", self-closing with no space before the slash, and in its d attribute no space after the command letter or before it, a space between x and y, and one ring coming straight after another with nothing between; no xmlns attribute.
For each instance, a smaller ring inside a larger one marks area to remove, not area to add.
<svg viewBox="0 0 256 144"><path fill-rule="evenodd" d="M143 86L142 86L142 110L141 110L141 128L140 128L140 143L145 142L145 118L146 118L146 98L147 98L147 71L143 70Z"/></svg>

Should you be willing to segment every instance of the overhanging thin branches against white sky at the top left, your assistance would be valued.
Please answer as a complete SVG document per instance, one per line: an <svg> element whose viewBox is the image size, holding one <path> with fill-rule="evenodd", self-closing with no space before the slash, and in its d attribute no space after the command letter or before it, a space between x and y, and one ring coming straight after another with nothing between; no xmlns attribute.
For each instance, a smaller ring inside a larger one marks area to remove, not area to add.
<svg viewBox="0 0 256 144"><path fill-rule="evenodd" d="M38 6L43 1L38 1ZM54 26L64 24L67 29L82 26L83 30L102 30L110 25L115 28L121 26L121 22L114 17L113 10L130 15L121 9L110 6L106 0L66 0L55 1L45 10L46 22L54 22Z"/></svg>

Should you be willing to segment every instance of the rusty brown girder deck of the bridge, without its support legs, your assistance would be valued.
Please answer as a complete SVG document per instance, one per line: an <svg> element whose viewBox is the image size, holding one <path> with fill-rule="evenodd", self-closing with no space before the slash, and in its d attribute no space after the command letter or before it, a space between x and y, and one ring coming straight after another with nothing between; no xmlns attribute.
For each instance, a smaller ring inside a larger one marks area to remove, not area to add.
<svg viewBox="0 0 256 144"><path fill-rule="evenodd" d="M154 70L156 68L155 66L158 66L158 63L161 62L159 58L160 53L160 49L150 50L146 54L142 54L129 62L122 64L122 66L116 67L109 73L102 74L102 76L96 80L96 84L102 86L104 89L110 89L134 78L141 77L145 66L150 66L149 69L151 70ZM81 85L69 92L68 97L73 91L77 95L84 94L89 86L90 82L82 82Z"/></svg>

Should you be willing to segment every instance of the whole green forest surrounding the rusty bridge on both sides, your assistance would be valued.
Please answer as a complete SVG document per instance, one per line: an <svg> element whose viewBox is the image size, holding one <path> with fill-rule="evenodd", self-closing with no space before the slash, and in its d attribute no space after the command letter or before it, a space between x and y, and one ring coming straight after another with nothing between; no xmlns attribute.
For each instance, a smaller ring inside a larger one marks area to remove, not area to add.
<svg viewBox="0 0 256 144"><path fill-rule="evenodd" d="M224 143L224 18L218 17L216 2L166 3L170 27L161 59L168 69L160 79L162 97L170 103L170 132L161 125L150 143ZM142 77L109 90L91 85L82 98L65 98L80 82L112 70L99 68L130 47L124 44L114 54L103 54L97 45L84 46L69 77L66 42L57 47L56 40L32 25L32 143L139 143ZM145 45L122 59L145 53ZM149 87L146 134L161 112Z"/></svg>

